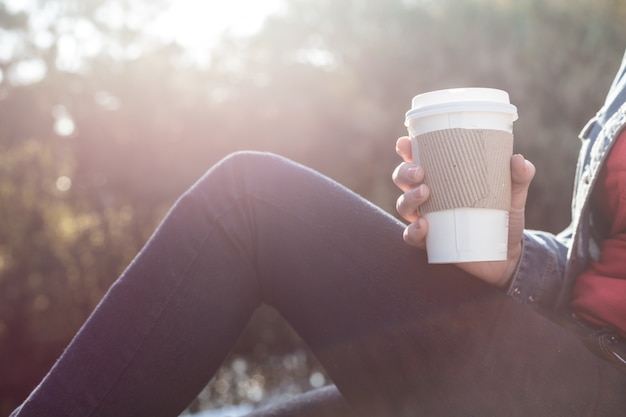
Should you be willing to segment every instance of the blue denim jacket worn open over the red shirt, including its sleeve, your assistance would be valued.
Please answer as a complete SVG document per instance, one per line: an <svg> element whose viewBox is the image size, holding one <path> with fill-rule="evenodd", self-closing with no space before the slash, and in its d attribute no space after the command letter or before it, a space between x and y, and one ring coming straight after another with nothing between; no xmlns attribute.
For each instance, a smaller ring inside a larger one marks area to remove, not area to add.
<svg viewBox="0 0 626 417"><path fill-rule="evenodd" d="M581 98L582 99L582 98ZM572 222L559 235L527 231L522 258L509 294L549 315L569 315L571 288L591 259L597 259L599 233L589 199L615 139L626 126L626 55L606 101L583 128L574 182Z"/></svg>

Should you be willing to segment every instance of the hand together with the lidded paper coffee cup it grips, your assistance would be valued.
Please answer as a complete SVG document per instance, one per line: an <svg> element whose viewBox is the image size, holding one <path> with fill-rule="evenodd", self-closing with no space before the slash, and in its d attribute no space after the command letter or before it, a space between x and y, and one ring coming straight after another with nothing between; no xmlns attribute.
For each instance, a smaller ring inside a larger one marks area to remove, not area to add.
<svg viewBox="0 0 626 417"><path fill-rule="evenodd" d="M534 174L512 155L517 108L491 88L431 91L411 104L409 137L397 143L404 163L394 172L404 192L396 208L411 223L405 240L426 249L430 263L467 265L503 285L521 254Z"/></svg>

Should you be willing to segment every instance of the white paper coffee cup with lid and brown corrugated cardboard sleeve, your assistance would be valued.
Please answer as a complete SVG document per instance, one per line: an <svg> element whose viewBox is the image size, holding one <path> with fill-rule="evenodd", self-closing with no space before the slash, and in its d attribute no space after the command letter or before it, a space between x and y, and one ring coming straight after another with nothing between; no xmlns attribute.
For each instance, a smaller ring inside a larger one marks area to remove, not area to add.
<svg viewBox="0 0 626 417"><path fill-rule="evenodd" d="M430 197L420 207L429 263L507 259L517 108L507 92L457 88L415 96L405 124Z"/></svg>

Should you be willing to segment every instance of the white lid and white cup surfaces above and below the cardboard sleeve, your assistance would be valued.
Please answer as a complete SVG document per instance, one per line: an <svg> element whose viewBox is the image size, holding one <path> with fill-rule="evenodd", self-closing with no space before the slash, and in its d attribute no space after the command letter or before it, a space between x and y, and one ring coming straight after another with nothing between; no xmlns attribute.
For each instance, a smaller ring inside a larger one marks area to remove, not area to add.
<svg viewBox="0 0 626 417"><path fill-rule="evenodd" d="M444 129L491 129L513 132L517 109L508 93L486 88L440 90L414 97L406 114L413 160L419 163L417 136ZM430 263L507 259L508 211L458 207L427 213Z"/></svg>

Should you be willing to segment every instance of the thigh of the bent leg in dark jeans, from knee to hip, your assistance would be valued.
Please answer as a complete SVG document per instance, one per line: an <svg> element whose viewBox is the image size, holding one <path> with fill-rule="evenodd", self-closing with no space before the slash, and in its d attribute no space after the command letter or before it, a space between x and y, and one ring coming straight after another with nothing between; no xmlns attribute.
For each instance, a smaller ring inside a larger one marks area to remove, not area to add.
<svg viewBox="0 0 626 417"><path fill-rule="evenodd" d="M623 410L624 377L570 333L457 268L428 265L398 222L354 194L287 166L270 179L249 162L235 171L250 172L263 299L358 415Z"/></svg>

